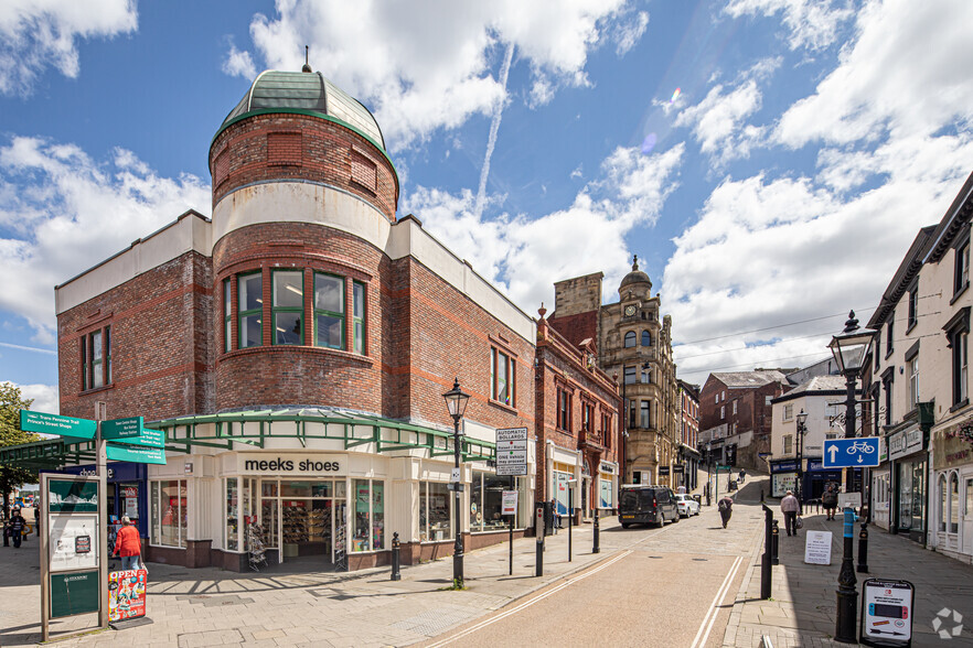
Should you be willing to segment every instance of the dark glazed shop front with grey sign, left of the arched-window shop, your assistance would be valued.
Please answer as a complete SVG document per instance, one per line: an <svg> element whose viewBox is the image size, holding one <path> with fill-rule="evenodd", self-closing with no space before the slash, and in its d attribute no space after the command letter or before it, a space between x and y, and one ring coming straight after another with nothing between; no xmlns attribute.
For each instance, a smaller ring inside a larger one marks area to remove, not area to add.
<svg viewBox="0 0 973 648"><path fill-rule="evenodd" d="M929 463L924 434L918 424L888 435L888 458L891 464L889 530L924 543Z"/></svg>

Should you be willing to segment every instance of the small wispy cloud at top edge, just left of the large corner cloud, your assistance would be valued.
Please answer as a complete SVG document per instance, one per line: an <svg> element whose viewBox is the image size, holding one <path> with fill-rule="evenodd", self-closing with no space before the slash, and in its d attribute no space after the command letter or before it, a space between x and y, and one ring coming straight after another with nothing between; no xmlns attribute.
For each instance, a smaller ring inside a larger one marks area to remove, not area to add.
<svg viewBox="0 0 973 648"><path fill-rule="evenodd" d="M734 18L781 13L790 31L791 50L821 50L831 45L841 23L852 15L847 2L831 0L731 0L724 11Z"/></svg>

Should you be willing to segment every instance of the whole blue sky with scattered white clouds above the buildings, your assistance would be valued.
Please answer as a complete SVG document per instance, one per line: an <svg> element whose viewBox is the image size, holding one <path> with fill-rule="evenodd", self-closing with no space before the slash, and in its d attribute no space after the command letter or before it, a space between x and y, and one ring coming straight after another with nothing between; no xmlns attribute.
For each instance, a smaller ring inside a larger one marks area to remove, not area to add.
<svg viewBox="0 0 973 648"><path fill-rule="evenodd" d="M424 227L525 312L638 255L678 376L800 367L973 171L967 0L0 0L0 380L57 411L54 287L211 213L263 69L375 115Z"/></svg>

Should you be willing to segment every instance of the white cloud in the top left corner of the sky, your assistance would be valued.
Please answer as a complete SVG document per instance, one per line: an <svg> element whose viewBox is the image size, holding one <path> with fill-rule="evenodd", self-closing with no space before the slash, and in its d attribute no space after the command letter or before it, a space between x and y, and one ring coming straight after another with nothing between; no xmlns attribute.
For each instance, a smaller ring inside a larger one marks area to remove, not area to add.
<svg viewBox="0 0 973 648"><path fill-rule="evenodd" d="M135 0L6 0L0 8L0 93L28 95L49 66L74 78L77 40L138 26Z"/></svg>

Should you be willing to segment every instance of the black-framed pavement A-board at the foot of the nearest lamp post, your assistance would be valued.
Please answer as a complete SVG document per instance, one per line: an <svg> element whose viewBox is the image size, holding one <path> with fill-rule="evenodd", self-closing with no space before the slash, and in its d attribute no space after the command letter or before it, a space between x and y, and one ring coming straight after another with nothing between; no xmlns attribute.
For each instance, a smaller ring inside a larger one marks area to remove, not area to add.
<svg viewBox="0 0 973 648"><path fill-rule="evenodd" d="M868 579L862 588L862 642L866 646L911 645L916 598L912 583Z"/></svg>

